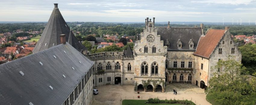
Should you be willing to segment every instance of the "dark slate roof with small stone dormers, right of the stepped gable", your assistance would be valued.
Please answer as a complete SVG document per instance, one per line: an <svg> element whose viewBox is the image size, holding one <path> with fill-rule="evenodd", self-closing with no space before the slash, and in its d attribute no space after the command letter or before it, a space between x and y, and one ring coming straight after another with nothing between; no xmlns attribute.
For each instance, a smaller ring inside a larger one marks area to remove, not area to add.
<svg viewBox="0 0 256 105"><path fill-rule="evenodd" d="M169 47L167 50L195 50L198 44L199 38L202 35L201 27L157 27L157 35L161 35L161 40L169 41ZM178 49L177 41L180 39L182 42L182 48ZM189 40L194 42L194 48L189 49Z"/></svg>

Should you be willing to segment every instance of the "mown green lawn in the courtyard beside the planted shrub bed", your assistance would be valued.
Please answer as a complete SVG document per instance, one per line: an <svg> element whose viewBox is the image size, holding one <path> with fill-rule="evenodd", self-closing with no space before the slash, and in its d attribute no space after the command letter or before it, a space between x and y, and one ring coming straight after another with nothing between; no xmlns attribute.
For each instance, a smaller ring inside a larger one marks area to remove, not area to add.
<svg viewBox="0 0 256 105"><path fill-rule="evenodd" d="M122 105L143 105L147 100L123 100ZM183 105L183 104L145 104L145 105Z"/></svg>

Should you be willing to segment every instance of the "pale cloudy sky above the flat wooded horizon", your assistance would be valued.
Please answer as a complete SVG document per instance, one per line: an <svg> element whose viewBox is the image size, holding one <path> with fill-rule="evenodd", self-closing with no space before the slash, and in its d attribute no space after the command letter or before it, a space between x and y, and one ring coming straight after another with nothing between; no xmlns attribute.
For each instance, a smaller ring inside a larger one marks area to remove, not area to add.
<svg viewBox="0 0 256 105"><path fill-rule="evenodd" d="M256 0L0 0L0 21L48 21L53 3L68 22L256 20Z"/></svg>

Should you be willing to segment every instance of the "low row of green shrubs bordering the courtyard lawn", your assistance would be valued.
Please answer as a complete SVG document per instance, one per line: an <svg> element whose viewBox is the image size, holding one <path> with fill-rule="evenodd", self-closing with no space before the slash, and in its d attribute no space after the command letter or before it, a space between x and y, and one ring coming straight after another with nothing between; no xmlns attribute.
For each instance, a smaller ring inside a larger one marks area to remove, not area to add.
<svg viewBox="0 0 256 105"><path fill-rule="evenodd" d="M145 102L145 104L158 104L158 103L163 103L163 104L183 104L183 105L195 105L192 101L188 100L159 100L158 98L149 98L148 101Z"/></svg>

